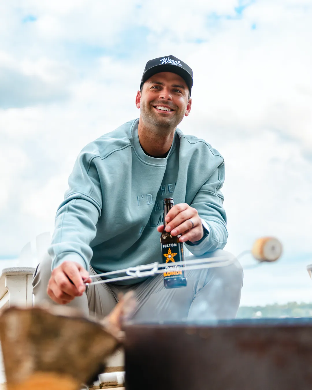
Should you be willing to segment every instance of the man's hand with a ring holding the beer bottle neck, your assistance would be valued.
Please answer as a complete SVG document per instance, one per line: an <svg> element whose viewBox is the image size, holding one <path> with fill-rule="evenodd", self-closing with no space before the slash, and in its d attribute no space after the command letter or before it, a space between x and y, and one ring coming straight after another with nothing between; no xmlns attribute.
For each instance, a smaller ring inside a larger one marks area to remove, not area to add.
<svg viewBox="0 0 312 390"><path fill-rule="evenodd" d="M180 242L199 241L204 236L202 221L194 207L187 203L175 204L168 212L165 221L167 222L166 232L171 232L172 236L178 236ZM157 230L163 232L164 225L158 226Z"/></svg>

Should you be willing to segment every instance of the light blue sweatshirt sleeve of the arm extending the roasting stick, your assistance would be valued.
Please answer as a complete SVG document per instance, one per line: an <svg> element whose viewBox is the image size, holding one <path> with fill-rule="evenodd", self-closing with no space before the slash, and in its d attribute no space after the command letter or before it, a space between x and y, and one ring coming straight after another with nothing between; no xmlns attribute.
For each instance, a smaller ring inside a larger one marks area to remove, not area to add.
<svg viewBox="0 0 312 390"><path fill-rule="evenodd" d="M64 261L75 261L89 270L93 252L90 242L96 236L101 216L102 194L96 169L96 158L81 152L69 176L69 189L57 209L55 230L48 253L52 269Z"/></svg>

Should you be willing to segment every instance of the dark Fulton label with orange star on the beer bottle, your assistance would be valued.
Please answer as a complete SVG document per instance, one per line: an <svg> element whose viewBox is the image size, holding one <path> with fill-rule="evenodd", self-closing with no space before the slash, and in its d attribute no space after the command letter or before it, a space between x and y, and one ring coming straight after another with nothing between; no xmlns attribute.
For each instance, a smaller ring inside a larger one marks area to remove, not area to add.
<svg viewBox="0 0 312 390"><path fill-rule="evenodd" d="M163 273L164 279L185 278L182 263L184 261L183 243L161 244L161 250L163 260L166 264L177 263L175 266L165 268L165 272Z"/></svg>

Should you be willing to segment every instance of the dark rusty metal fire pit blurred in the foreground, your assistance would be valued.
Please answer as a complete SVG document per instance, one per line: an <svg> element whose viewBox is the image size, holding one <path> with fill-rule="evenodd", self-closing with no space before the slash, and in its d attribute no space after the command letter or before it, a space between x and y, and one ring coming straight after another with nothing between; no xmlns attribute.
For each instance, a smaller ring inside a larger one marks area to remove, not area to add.
<svg viewBox="0 0 312 390"><path fill-rule="evenodd" d="M128 324L127 390L310 390L312 319Z"/></svg>

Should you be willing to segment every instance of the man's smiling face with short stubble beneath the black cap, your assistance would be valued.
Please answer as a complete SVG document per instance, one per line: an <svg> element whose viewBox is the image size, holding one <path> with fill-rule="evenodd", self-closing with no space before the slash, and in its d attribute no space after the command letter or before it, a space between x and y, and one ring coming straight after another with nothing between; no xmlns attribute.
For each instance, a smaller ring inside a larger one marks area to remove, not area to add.
<svg viewBox="0 0 312 390"><path fill-rule="evenodd" d="M176 73L161 72L145 81L136 104L145 123L161 128L176 128L191 110L188 86Z"/></svg>

